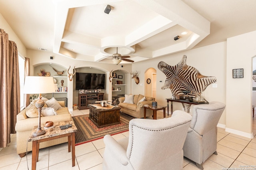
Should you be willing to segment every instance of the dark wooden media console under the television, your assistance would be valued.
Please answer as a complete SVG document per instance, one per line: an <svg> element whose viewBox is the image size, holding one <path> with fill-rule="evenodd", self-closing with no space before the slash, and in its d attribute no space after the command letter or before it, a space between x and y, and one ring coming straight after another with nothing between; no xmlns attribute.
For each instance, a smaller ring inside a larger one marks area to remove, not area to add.
<svg viewBox="0 0 256 170"><path fill-rule="evenodd" d="M89 109L90 104L104 100L104 93L82 93L78 94L78 110Z"/></svg>

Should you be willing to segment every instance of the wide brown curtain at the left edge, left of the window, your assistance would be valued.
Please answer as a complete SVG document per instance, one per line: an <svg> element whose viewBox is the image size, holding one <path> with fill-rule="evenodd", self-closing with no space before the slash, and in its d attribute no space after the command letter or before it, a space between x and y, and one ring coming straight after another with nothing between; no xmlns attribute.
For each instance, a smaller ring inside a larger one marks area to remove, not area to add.
<svg viewBox="0 0 256 170"><path fill-rule="evenodd" d="M20 77L15 42L0 29L0 148L8 146L10 134L16 133L16 116L20 112Z"/></svg>

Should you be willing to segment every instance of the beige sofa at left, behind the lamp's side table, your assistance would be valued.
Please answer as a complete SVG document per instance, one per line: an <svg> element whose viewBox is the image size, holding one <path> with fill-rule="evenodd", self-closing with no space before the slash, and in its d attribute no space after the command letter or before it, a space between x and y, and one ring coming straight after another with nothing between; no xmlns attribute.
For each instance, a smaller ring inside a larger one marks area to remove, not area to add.
<svg viewBox="0 0 256 170"><path fill-rule="evenodd" d="M46 121L52 121L56 123L60 121L71 120L71 115L68 111L68 108L65 107L65 102L64 101L56 101L56 102L58 102L62 108L56 110L57 115L41 117L42 129L44 128ZM24 157L26 155L27 140L31 136L32 129L34 128L34 126L38 126L38 117L29 118L26 115L26 111L28 110L28 108L30 108L31 105L34 105L34 103L33 102L30 103L28 107L26 107L17 115L17 123L15 126L15 130L16 130L16 138L17 138L17 153L20 155L20 157ZM44 107L47 107L47 105L45 104ZM46 148L48 146L53 146L53 145L61 144L65 142L68 142L67 137L54 139L46 142L41 142L40 148ZM31 150L32 150L32 142L28 142L27 151L29 152Z"/></svg>

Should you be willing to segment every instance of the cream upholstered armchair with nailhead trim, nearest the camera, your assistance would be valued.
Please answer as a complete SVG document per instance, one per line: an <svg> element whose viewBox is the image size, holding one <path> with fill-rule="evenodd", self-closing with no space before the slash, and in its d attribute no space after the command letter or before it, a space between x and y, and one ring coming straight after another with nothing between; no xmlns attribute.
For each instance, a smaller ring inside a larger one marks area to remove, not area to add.
<svg viewBox="0 0 256 170"><path fill-rule="evenodd" d="M103 170L182 170L191 118L174 112L167 119L132 119L129 137L116 141L104 136Z"/></svg>

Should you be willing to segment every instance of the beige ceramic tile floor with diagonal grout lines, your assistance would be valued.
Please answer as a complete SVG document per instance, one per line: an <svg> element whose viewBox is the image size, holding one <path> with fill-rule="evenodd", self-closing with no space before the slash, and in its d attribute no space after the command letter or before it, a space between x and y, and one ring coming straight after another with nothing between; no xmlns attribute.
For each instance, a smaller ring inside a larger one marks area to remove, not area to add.
<svg viewBox="0 0 256 170"><path fill-rule="evenodd" d="M72 116L89 114L88 110L74 110ZM157 119L162 119L163 113L158 112ZM152 119L148 117L148 119ZM253 134L256 134L256 118L253 119ZM120 139L128 136L128 132L116 134ZM253 139L225 132L218 128L218 155L212 155L204 162L204 170L235 169L241 166L256 166L256 136ZM95 140L76 146L76 166L72 167L71 153L67 152L68 144L59 144L40 149L37 170L102 170L102 156L104 153L103 139ZM0 170L31 170L31 155L20 158L16 154L16 134L11 137L8 147L0 151ZM254 167L256 170L256 167ZM187 158L183 160L184 170L198 170L195 163ZM245 169L245 168L244 168Z"/></svg>

